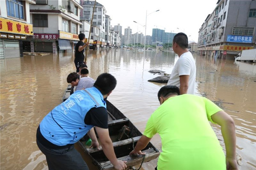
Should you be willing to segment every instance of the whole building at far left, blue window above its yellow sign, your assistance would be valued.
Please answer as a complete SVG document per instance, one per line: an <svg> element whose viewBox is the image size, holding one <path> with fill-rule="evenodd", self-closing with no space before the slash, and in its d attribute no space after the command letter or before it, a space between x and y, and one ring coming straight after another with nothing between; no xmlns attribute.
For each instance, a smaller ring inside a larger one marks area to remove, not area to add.
<svg viewBox="0 0 256 170"><path fill-rule="evenodd" d="M0 59L23 57L33 37L29 4L35 0L0 0Z"/></svg>

